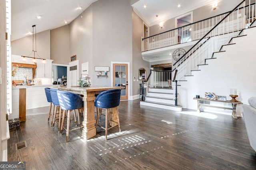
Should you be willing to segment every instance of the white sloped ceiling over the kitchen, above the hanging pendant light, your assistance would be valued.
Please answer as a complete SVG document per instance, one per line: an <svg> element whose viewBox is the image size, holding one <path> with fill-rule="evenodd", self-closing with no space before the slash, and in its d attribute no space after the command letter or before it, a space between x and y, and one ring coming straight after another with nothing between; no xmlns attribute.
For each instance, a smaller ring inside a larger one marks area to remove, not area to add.
<svg viewBox="0 0 256 170"><path fill-rule="evenodd" d="M30 35L32 25L36 25L36 32L39 33L69 24L95 1L12 0L11 41ZM36 16L42 18L37 19Z"/></svg>

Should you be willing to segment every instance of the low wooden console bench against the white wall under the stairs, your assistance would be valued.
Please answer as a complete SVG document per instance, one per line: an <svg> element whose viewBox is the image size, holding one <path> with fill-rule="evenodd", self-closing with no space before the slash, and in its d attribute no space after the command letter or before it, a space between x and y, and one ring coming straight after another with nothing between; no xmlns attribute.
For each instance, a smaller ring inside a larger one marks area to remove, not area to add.
<svg viewBox="0 0 256 170"><path fill-rule="evenodd" d="M214 108L219 108L219 109L228 109L228 110L232 110L232 117L234 119L237 119L237 115L236 115L236 105L237 104L243 104L242 102L231 102L231 101L221 101L221 100L210 100L210 99L205 99L205 98L193 98L194 100L197 100L197 111L200 112L200 107L204 106L204 107L214 107ZM200 104L200 101L210 101L210 102L222 102L222 103L231 103L232 104L232 108L230 107L221 107L221 106L212 106L212 105L208 105L208 104Z"/></svg>

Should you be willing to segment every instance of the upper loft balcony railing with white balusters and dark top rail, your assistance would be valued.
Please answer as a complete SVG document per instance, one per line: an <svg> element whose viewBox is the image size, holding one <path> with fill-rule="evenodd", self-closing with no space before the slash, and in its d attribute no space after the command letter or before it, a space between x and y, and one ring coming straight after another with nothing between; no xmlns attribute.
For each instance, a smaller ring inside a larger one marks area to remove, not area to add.
<svg viewBox="0 0 256 170"><path fill-rule="evenodd" d="M142 52L200 40L202 37L209 38L220 35L220 33L234 32L246 26L248 27L247 24L255 19L255 1L254 4L251 4L251 0L245 1L248 2L241 2L243 6L236 8L236 11L233 11L231 16L230 12L226 12L212 18L190 23L183 27L142 38ZM222 21L226 16L229 17ZM211 31L210 34L207 34L215 25L220 23L220 21L222 21L222 25L219 26L218 29Z"/></svg>

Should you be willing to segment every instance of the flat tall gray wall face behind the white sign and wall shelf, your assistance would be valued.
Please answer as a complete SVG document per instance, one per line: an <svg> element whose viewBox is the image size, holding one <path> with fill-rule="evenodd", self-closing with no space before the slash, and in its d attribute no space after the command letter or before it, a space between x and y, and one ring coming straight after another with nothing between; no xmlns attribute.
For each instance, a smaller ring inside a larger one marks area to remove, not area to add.
<svg viewBox="0 0 256 170"><path fill-rule="evenodd" d="M130 62L130 71L132 71L132 7L130 1L98 0L92 4L92 8L93 66L111 67L111 62ZM110 78L98 79L96 75L97 72L93 70L92 76L95 84L112 86ZM129 76L132 77L131 74ZM132 84L130 84L130 89L132 89ZM132 95L132 90L130 95Z"/></svg>

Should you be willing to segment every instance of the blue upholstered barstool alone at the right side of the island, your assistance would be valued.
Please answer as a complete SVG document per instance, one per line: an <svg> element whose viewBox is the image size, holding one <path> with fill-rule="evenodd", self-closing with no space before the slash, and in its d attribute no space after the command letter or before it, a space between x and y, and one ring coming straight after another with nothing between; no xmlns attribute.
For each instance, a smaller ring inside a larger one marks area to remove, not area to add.
<svg viewBox="0 0 256 170"><path fill-rule="evenodd" d="M119 131L120 130L120 121L119 121L119 111L118 111L118 106L120 104L120 95L121 95L121 89L114 89L114 90L106 90L104 92L101 92L95 99L94 106L97 107L97 119L96 119L96 128L97 126L101 127L102 129L105 129L105 135L106 135L106 140L108 138L108 129L118 125ZM110 108L113 110L116 109L116 115L117 115L117 121L115 122L112 119L110 119L108 112L110 111ZM106 120L101 122L105 122L105 127L100 126L98 123L98 118L101 115L100 109L106 109ZM109 121L112 121L116 123L114 126L108 127Z"/></svg>

